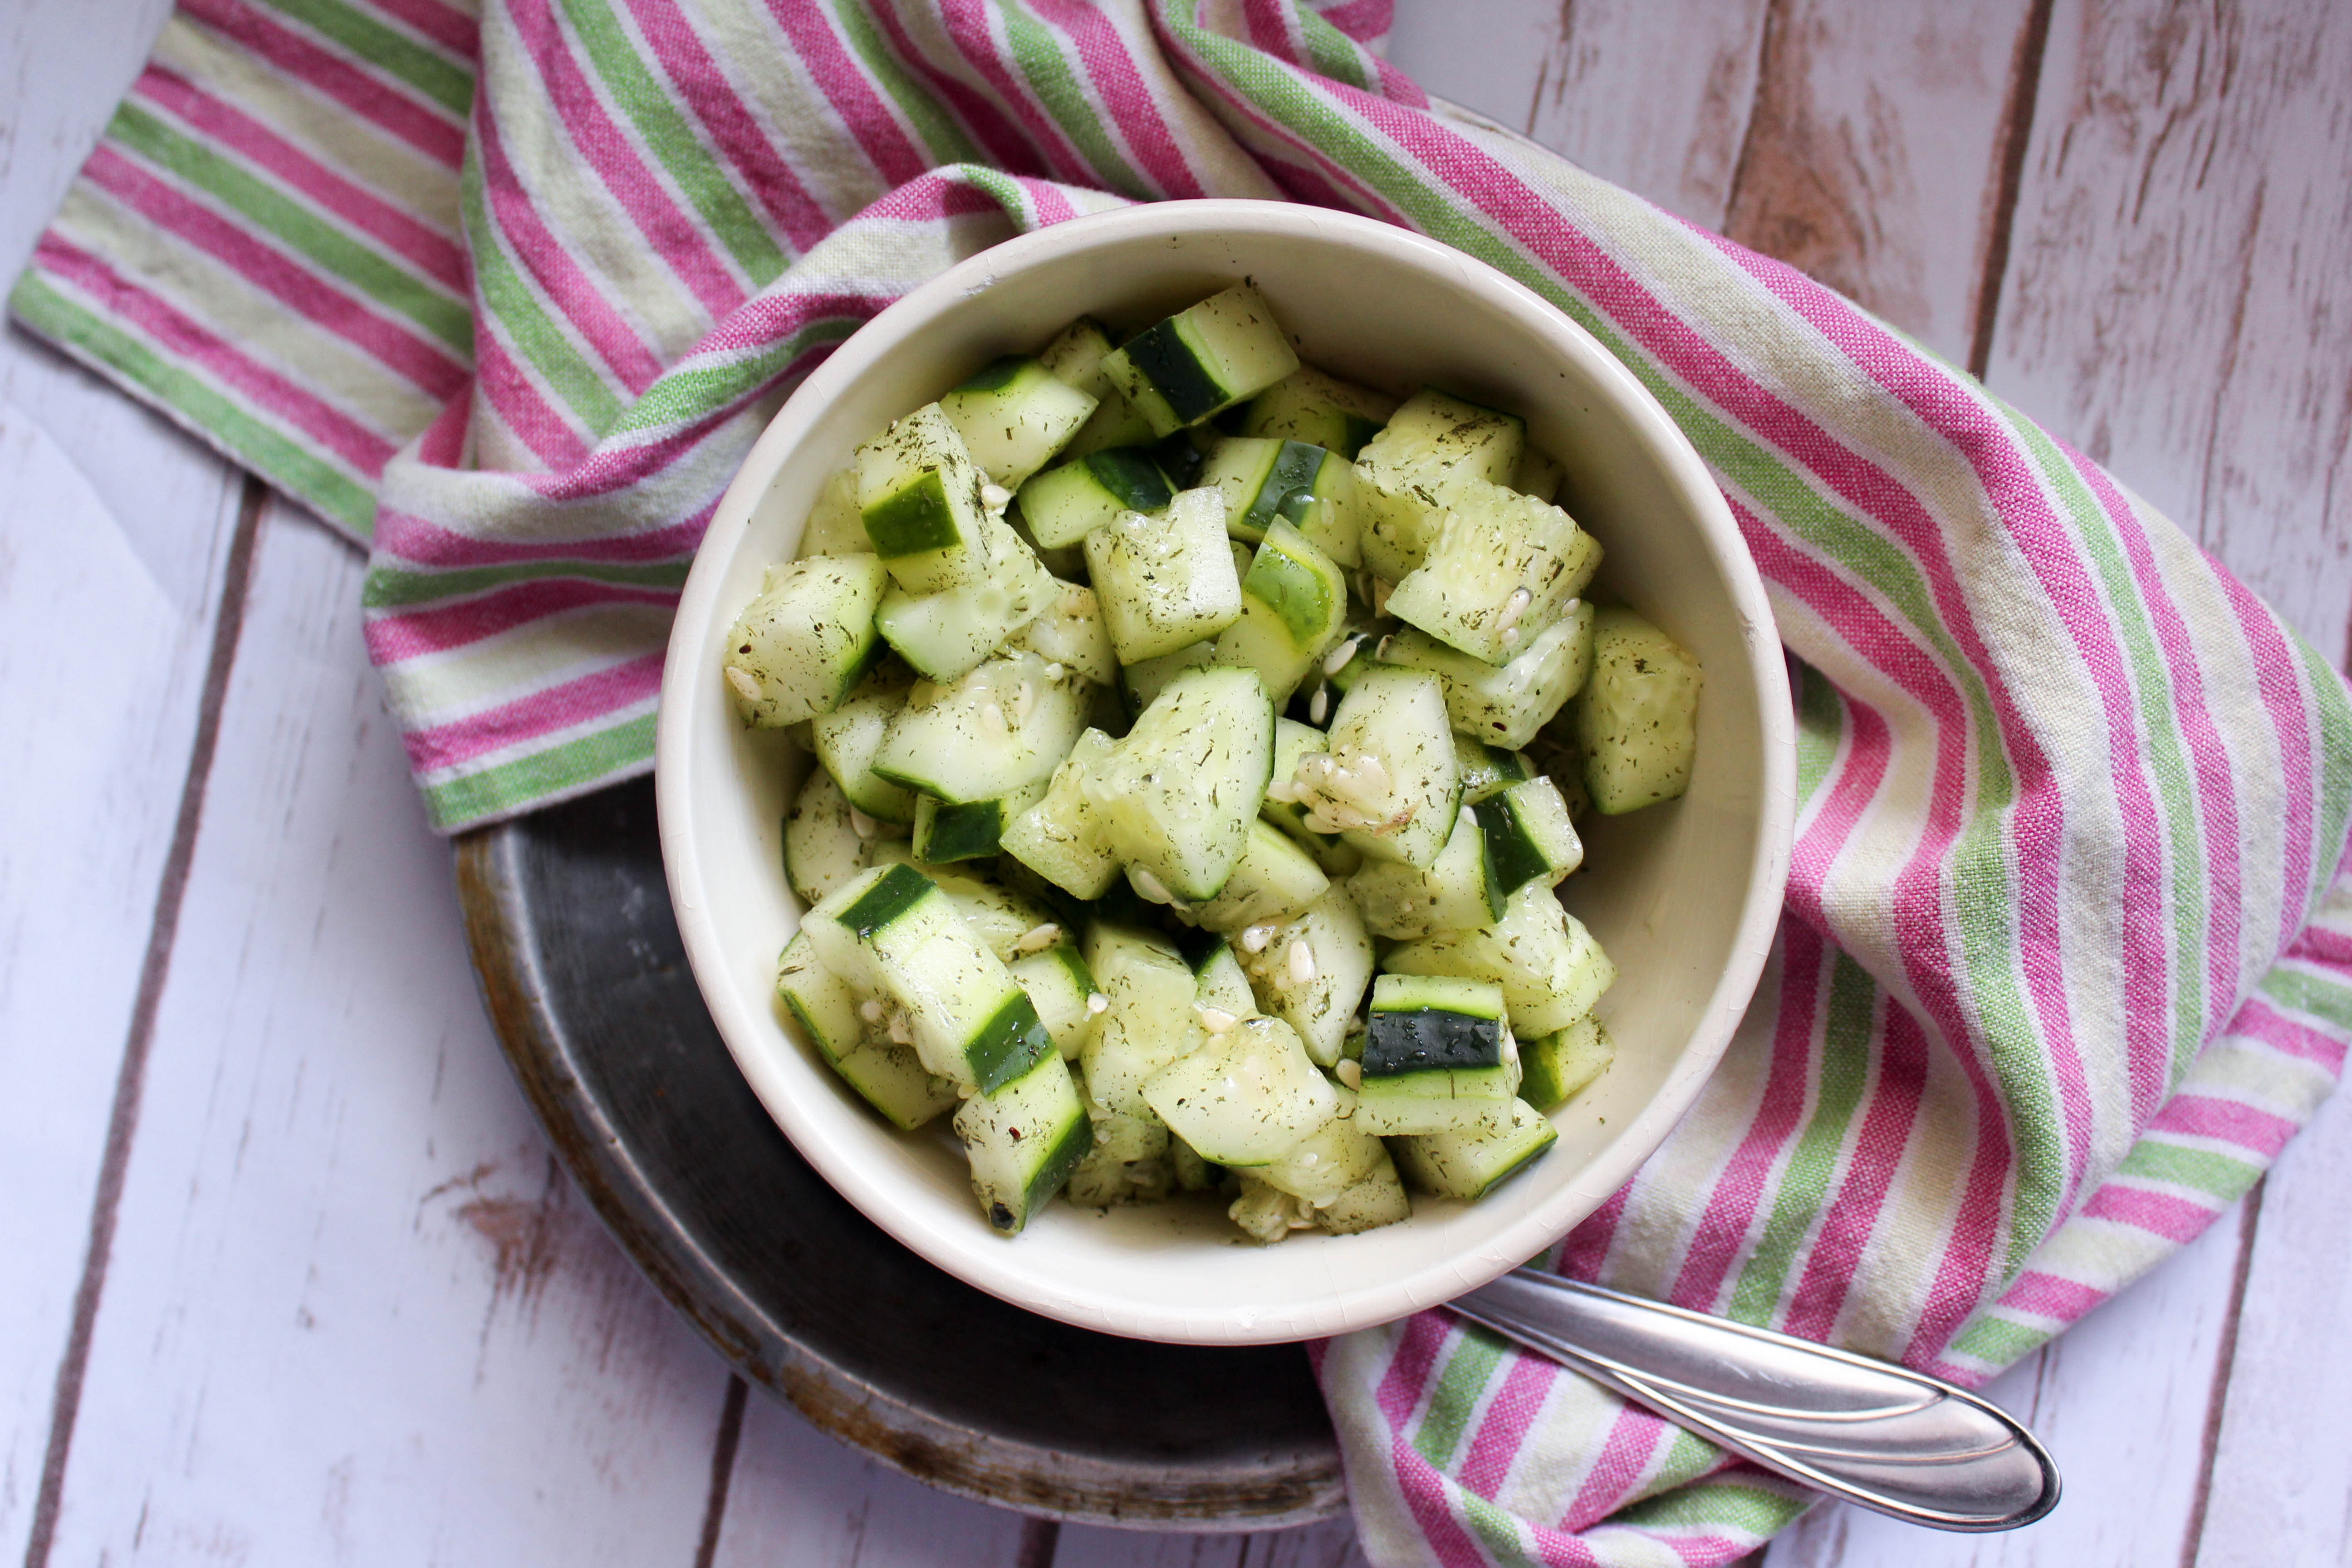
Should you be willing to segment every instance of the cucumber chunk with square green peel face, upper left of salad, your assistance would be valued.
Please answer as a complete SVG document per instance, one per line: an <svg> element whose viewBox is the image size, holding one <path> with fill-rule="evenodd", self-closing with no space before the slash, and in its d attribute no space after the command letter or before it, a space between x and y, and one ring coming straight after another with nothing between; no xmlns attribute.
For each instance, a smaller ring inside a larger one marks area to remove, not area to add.
<svg viewBox="0 0 2352 1568"><path fill-rule="evenodd" d="M936 402L858 447L858 517L898 588L941 592L988 576L985 482Z"/></svg>

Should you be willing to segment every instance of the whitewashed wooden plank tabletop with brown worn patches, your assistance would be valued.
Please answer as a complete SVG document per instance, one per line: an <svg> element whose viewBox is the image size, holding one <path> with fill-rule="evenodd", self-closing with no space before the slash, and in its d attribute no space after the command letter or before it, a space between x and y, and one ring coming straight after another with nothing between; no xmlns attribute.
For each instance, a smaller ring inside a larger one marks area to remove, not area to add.
<svg viewBox="0 0 2352 1568"><path fill-rule="evenodd" d="M167 0L0 0L14 273ZM2352 628L2352 7L1399 0L1395 59L1804 266ZM47 1563L1359 1561L931 1493L743 1387L569 1190L475 1001L360 559L0 341L0 1552ZM2340 484L2340 480L2345 480ZM1994 1385L2006 1537L1771 1568L2347 1563L2352 1103Z"/></svg>

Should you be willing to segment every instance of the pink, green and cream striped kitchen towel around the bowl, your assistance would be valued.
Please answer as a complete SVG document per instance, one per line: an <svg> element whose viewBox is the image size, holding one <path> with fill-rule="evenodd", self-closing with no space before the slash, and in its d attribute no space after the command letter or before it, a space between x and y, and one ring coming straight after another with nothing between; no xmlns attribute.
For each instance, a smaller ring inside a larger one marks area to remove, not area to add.
<svg viewBox="0 0 2352 1568"><path fill-rule="evenodd" d="M1442 103L1388 0L181 0L12 306L353 538L445 830L652 759L781 395L1122 200L1461 247L1745 529L1799 693L1771 971L1559 1265L1980 1382L2237 1199L2352 1037L2352 708L2082 454ZM1724 1563L1806 1497L1442 1314L1317 1347L1378 1563Z"/></svg>

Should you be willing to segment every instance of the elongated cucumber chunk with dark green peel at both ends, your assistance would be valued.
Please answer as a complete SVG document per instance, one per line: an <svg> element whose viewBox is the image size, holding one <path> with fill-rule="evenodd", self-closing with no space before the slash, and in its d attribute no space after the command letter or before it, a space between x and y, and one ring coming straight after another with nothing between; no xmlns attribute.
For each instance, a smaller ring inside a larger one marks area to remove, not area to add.
<svg viewBox="0 0 2352 1568"><path fill-rule="evenodd" d="M901 1044L943 1079L993 1093L1037 1056L1054 1056L1028 994L948 896L908 865L835 889L802 917L802 931L826 969L898 1004Z"/></svg>

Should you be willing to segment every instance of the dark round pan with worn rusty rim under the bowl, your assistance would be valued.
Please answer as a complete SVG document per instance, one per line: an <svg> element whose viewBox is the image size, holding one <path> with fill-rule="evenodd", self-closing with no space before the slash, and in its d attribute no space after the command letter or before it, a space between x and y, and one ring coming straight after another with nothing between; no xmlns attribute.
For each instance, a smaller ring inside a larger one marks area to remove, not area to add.
<svg viewBox="0 0 2352 1568"><path fill-rule="evenodd" d="M786 1143L687 969L652 783L459 839L492 1023L572 1178L736 1371L950 1493L1091 1523L1256 1530L1343 1507L1296 1345L1035 1316L938 1272Z"/></svg>

